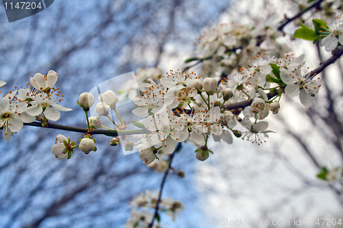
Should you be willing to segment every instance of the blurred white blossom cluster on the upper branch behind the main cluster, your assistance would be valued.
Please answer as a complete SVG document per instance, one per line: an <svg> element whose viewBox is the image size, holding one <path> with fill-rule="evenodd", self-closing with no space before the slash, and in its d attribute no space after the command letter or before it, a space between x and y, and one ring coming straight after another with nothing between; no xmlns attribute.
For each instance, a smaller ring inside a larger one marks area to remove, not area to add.
<svg viewBox="0 0 343 228"><path fill-rule="evenodd" d="M276 40L282 35L276 25L274 17L255 26L221 24L200 36L196 47L196 52L202 54L200 77L229 75L259 53L280 56L288 51Z"/></svg>

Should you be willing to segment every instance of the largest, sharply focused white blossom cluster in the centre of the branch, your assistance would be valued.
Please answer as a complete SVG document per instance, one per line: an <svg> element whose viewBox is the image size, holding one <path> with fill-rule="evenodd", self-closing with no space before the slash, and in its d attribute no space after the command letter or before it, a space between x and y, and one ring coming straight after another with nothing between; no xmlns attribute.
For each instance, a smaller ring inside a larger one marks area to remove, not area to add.
<svg viewBox="0 0 343 228"><path fill-rule="evenodd" d="M133 99L137 108L132 112L143 117L150 131L137 142L139 157L150 164L159 151L173 153L178 142L188 140L198 147L198 160L206 160L212 153L206 146L209 138L232 143L232 135L240 137L242 127L246 129L242 138L264 142L263 136L272 131L267 130L267 122L258 121L279 112L283 92L289 97L299 95L305 106L311 106L320 85L301 72L303 64L303 55L280 59L257 55L220 84L215 78L180 71L150 80L141 97ZM246 105L230 108L237 102Z"/></svg>

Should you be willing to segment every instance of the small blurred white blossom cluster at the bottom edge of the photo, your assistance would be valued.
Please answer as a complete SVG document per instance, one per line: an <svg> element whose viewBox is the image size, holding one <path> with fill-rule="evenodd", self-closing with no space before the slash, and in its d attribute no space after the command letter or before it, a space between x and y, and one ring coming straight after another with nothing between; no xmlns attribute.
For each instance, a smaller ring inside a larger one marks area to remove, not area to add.
<svg viewBox="0 0 343 228"><path fill-rule="evenodd" d="M131 217L126 222L125 227L149 227L154 218L154 214L149 210L154 210L156 208L158 194L159 192L152 194L150 190L145 190L144 193L141 192L138 197L133 199L130 202L133 206ZM178 213L185 208L180 201L174 201L171 198L161 199L158 207L161 212L165 212L168 216L171 216L173 220L175 220ZM161 227L161 225L155 224L153 227L158 228Z"/></svg>

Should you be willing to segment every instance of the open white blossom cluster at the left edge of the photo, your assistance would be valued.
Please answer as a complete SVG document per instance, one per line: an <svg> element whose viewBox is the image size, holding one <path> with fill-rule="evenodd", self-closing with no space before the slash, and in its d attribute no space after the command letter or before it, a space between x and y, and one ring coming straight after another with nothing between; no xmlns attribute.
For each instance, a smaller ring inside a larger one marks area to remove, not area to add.
<svg viewBox="0 0 343 228"><path fill-rule="evenodd" d="M58 104L63 100L63 95L54 88L57 79L55 71L49 71L47 75L36 73L30 78L33 88L27 84L27 88L3 95L0 99L0 124L6 142L23 127L23 123L32 123L38 119L47 125L48 120L58 121L60 111L71 111ZM5 85L5 82L0 81L0 85Z"/></svg>

